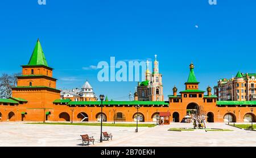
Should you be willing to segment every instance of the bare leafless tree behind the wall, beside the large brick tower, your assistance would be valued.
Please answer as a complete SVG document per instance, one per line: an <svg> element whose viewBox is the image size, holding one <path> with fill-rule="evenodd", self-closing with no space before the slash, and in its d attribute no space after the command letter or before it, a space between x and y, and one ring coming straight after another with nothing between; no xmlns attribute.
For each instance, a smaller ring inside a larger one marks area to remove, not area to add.
<svg viewBox="0 0 256 158"><path fill-rule="evenodd" d="M17 76L20 76L20 73L2 74L0 77L0 98L7 99L11 97L11 88L17 85Z"/></svg>

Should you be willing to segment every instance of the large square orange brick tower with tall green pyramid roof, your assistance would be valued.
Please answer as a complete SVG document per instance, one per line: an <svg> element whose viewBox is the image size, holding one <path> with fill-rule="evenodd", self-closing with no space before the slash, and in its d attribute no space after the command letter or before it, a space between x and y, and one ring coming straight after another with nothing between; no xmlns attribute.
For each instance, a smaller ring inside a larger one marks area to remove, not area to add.
<svg viewBox="0 0 256 158"><path fill-rule="evenodd" d="M56 79L52 78L52 68L47 64L40 41L27 65L22 65L22 76L18 76L17 86L13 88L13 97L23 98L27 108L45 109L53 106L53 101L60 98L56 89Z"/></svg>

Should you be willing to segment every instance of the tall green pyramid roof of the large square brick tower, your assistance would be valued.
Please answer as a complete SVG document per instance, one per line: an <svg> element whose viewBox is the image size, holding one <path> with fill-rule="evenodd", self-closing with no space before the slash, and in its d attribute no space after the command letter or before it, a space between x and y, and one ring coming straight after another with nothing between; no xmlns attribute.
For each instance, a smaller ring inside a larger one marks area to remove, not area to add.
<svg viewBox="0 0 256 158"><path fill-rule="evenodd" d="M42 45L40 44L40 41L36 41L36 45L34 48L34 51L30 57L30 61L28 62L27 65L44 65L48 66L46 57L44 56L44 52L42 49Z"/></svg>

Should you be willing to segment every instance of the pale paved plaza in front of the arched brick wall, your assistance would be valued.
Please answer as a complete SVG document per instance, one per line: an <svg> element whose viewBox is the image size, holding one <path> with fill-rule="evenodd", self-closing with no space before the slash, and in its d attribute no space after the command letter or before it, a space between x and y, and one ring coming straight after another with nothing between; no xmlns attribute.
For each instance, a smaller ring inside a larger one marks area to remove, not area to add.
<svg viewBox="0 0 256 158"><path fill-rule="evenodd" d="M48 146L81 147L82 134L94 136L94 145L89 147L188 147L188 146L256 146L256 131L246 131L224 123L208 123L208 128L225 128L233 131L168 131L171 127L192 127L187 123L171 123L168 126L104 127L103 131L112 133L113 140L100 143L100 126L70 126L24 124L1 122L0 146ZM85 147L85 146L84 146Z"/></svg>

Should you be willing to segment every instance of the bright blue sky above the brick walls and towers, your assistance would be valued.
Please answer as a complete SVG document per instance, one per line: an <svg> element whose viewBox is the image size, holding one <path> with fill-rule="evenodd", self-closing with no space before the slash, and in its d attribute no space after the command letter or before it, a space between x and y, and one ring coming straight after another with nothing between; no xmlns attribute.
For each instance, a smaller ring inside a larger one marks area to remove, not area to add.
<svg viewBox="0 0 256 158"><path fill-rule="evenodd" d="M58 88L88 80L109 99L134 93L137 85L97 80L98 70L88 67L110 56L146 60L157 54L166 99L174 85L184 90L191 61L202 90L238 70L256 72L254 0L37 1L1 1L0 73L20 72L38 38Z"/></svg>

